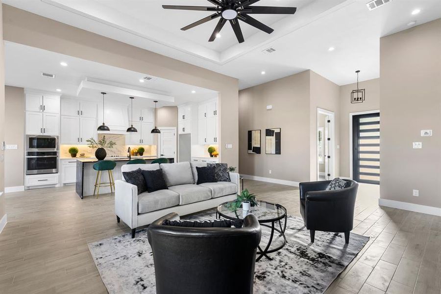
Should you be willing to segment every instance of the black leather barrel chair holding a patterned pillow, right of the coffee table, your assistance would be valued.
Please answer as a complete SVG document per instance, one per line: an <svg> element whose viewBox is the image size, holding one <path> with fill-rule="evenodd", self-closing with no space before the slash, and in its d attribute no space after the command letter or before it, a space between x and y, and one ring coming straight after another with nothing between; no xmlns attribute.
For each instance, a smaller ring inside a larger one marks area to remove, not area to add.
<svg viewBox="0 0 441 294"><path fill-rule="evenodd" d="M300 183L300 214L314 243L316 231L344 233L346 244L353 228L358 183L345 180L346 188L325 191L331 181Z"/></svg>

